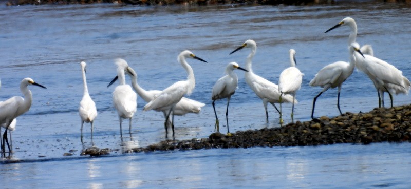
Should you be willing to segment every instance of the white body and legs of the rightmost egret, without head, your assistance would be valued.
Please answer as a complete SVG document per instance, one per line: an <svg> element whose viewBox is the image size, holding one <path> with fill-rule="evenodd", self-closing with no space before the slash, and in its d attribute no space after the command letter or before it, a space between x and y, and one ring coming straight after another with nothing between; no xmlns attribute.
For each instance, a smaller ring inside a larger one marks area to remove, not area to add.
<svg viewBox="0 0 411 189"><path fill-rule="evenodd" d="M402 71L374 56L360 57L358 53L354 56L357 59L357 68L368 75L377 89L379 107L381 107L381 102L384 107L384 92L389 95L391 107L393 107L393 93L408 94L411 83L402 75Z"/></svg>

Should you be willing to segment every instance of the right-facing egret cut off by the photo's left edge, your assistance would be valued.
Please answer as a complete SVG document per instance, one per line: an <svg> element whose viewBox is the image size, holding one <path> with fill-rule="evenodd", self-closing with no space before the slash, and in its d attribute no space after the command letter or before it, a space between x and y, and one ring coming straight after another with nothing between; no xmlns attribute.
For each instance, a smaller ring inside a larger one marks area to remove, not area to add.
<svg viewBox="0 0 411 189"><path fill-rule="evenodd" d="M11 152L7 138L7 130L10 127L11 122L13 119L26 113L30 109L33 96L31 91L27 88L29 85L35 85L47 89L44 86L34 82L33 79L27 77L20 83L20 91L24 94L24 98L21 96L13 96L4 102L0 102L0 124L6 124L6 131L3 134L3 152L6 152L5 142L7 142L7 147L9 148L9 152Z"/></svg>

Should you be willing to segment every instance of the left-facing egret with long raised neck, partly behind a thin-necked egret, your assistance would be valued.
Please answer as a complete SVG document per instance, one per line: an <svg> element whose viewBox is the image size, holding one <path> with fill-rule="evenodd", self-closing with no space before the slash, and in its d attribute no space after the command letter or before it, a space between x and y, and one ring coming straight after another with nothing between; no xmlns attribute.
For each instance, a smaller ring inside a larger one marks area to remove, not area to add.
<svg viewBox="0 0 411 189"><path fill-rule="evenodd" d="M274 106L275 110L277 110L277 112L281 114L274 104L274 103L280 102L279 101L280 93L278 92L278 86L268 81L267 79L256 75L253 72L251 68L251 64L252 64L251 62L257 50L257 44L255 43L255 41L251 39L246 40L244 44L242 44L240 47L235 49L230 54L233 54L234 52L242 48L245 48L245 47L251 48L251 53L247 56L247 61L246 61L246 70L248 70L248 72L245 73L246 82L247 82L247 85L250 86L250 88L254 91L254 93L263 100L264 108L266 110L266 118L268 121L267 102L271 103L272 106ZM292 103L293 102L292 99L293 97L287 94L282 97L282 102ZM297 103L297 100L295 100L294 103Z"/></svg>

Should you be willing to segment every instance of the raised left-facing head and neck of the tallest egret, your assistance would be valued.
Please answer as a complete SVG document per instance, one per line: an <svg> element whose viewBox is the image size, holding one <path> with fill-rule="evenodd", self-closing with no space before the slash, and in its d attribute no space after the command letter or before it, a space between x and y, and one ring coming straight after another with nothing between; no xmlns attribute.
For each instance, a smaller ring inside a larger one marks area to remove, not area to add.
<svg viewBox="0 0 411 189"><path fill-rule="evenodd" d="M356 42L357 39L357 24L356 24L356 20L350 18L350 17L346 17L343 20L341 20L341 22L339 22L337 25L333 26L332 28L328 29L327 31L325 31L324 33L327 33L335 28L338 28L340 26L348 26L351 29L350 35L348 36L348 48L350 48L351 44ZM371 45L364 45L361 47L360 51L363 54L368 54L371 56L374 56L374 51L372 50Z"/></svg>

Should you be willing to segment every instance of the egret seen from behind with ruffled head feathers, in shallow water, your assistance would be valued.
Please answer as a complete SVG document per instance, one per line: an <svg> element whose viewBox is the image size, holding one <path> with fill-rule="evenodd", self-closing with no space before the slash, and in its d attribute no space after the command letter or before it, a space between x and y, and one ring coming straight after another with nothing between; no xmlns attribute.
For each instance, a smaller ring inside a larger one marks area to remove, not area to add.
<svg viewBox="0 0 411 189"><path fill-rule="evenodd" d="M115 61L117 65L117 76L120 83L113 92L113 104L119 115L120 135L122 136L122 119L129 119L129 132L131 134L132 118L137 111L137 94L133 91L132 87L125 83L124 70L128 69L127 62L121 58L118 58Z"/></svg>

